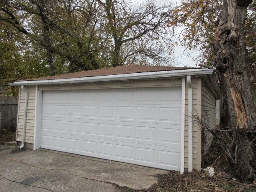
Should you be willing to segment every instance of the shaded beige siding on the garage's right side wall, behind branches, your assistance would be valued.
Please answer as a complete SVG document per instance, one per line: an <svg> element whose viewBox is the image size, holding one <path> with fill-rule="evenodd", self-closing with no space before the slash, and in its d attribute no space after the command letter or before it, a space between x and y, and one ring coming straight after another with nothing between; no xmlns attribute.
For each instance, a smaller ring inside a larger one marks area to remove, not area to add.
<svg viewBox="0 0 256 192"><path fill-rule="evenodd" d="M204 82L202 82L202 120L205 121L206 126L209 128L216 127L216 98ZM212 138L213 135L205 131L205 153L210 147Z"/></svg>

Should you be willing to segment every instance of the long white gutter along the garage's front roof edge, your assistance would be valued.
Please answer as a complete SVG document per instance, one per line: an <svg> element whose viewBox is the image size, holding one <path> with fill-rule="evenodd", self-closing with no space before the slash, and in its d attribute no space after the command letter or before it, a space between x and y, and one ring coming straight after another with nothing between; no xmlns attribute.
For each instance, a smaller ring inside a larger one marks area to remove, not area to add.
<svg viewBox="0 0 256 192"><path fill-rule="evenodd" d="M68 79L52 79L52 80L28 80L9 83L11 86L21 85L47 85L47 84L72 84L84 82L104 82L104 81L120 81L120 80L138 80L138 79L152 79L152 78L171 78L171 77L186 77L188 75L207 75L212 74L214 69L184 69L184 70L169 70L157 72L142 72L106 76L92 76Z"/></svg>

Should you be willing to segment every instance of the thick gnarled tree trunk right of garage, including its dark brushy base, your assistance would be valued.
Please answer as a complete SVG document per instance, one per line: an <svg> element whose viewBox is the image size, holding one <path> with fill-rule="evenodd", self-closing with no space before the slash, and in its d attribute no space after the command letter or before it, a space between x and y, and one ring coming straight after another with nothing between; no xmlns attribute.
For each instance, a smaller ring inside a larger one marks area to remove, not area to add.
<svg viewBox="0 0 256 192"><path fill-rule="evenodd" d="M214 34L214 66L220 72L232 132L219 137L228 167L244 181L256 178L256 109L245 63L244 21L251 0L223 0ZM225 164L224 162L224 164Z"/></svg>

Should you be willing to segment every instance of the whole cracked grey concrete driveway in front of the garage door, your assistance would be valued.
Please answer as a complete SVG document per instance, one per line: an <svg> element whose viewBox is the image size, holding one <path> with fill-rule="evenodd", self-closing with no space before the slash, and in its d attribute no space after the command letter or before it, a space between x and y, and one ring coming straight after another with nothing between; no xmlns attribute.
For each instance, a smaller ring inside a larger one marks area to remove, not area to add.
<svg viewBox="0 0 256 192"><path fill-rule="evenodd" d="M122 192L147 189L168 171L52 150L0 151L0 191Z"/></svg>

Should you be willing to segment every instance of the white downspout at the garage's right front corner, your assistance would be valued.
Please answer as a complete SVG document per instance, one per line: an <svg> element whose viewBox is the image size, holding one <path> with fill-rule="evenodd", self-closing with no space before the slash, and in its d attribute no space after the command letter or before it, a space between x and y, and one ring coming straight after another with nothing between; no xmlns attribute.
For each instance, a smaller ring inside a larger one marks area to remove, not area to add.
<svg viewBox="0 0 256 192"><path fill-rule="evenodd" d="M191 76L187 76L188 84L188 171L193 170L193 88Z"/></svg>

